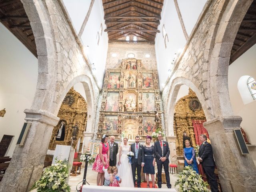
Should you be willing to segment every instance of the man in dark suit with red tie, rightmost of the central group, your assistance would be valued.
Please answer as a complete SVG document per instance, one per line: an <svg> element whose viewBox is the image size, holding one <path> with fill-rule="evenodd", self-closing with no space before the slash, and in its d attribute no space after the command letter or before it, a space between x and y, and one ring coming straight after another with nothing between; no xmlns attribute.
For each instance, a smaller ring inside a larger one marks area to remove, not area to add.
<svg viewBox="0 0 256 192"><path fill-rule="evenodd" d="M164 173L166 177L167 187L172 188L170 184L170 174L169 174L169 155L170 148L168 142L163 141L162 134L158 134L158 141L154 144L154 152L156 155L156 165L157 165L157 185L158 188L162 188L162 168L164 166Z"/></svg>

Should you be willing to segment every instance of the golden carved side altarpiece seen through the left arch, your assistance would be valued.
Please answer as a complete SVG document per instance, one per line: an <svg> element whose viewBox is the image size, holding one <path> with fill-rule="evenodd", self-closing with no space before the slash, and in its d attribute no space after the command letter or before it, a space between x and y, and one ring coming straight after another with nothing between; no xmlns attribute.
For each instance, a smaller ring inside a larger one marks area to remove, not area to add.
<svg viewBox="0 0 256 192"><path fill-rule="evenodd" d="M71 145L76 149L79 145L79 152L82 151L84 140L83 132L86 131L87 104L84 98L71 88L64 98L58 112L60 121L53 128L49 150L55 150L56 144ZM61 124L64 123L64 140L56 140Z"/></svg>

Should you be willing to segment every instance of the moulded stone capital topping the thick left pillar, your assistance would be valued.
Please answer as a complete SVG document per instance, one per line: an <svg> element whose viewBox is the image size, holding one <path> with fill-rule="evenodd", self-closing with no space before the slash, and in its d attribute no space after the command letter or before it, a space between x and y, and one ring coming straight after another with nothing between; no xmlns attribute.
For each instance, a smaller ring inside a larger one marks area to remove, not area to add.
<svg viewBox="0 0 256 192"><path fill-rule="evenodd" d="M51 126L56 126L60 120L60 118L58 118L54 114L43 110L25 109L24 113L26 114L26 121L38 121Z"/></svg>

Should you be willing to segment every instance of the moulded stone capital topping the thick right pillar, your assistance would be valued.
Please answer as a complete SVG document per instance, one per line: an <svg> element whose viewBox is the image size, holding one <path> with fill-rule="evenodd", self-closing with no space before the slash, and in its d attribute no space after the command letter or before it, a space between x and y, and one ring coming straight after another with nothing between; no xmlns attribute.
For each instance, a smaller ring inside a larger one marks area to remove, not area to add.
<svg viewBox="0 0 256 192"><path fill-rule="evenodd" d="M221 134L233 132L234 129L240 128L241 122L240 116L220 116L204 122L204 127L210 134Z"/></svg>

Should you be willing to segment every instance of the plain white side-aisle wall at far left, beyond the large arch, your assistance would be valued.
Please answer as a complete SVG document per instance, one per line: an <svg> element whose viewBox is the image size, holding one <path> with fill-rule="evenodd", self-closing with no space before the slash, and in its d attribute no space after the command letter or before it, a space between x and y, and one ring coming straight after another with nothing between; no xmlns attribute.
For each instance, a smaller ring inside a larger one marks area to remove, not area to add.
<svg viewBox="0 0 256 192"><path fill-rule="evenodd" d="M24 123L24 110L31 107L38 76L37 58L0 23L0 139L14 139L6 156L12 156Z"/></svg>

